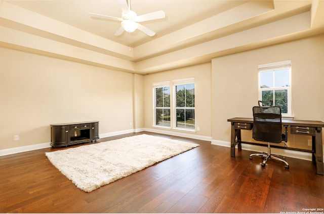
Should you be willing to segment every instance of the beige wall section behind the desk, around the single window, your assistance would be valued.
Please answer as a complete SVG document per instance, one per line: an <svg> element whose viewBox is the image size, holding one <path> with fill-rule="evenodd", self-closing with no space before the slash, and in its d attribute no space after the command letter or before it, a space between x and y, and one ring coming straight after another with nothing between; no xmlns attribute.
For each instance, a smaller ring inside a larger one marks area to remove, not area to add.
<svg viewBox="0 0 324 214"><path fill-rule="evenodd" d="M292 61L295 119L324 121L324 35L236 53L212 60L212 136L230 141L233 117L252 117L258 104L258 65ZM252 133L242 132L245 141ZM308 137L291 135L289 146L308 148Z"/></svg>

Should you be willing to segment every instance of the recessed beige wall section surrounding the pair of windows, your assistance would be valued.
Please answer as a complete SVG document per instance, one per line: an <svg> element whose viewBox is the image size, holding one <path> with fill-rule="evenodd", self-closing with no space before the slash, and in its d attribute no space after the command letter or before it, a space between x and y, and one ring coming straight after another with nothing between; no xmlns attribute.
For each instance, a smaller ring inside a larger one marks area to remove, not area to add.
<svg viewBox="0 0 324 214"><path fill-rule="evenodd" d="M153 127L153 83L171 82L171 96L173 94L172 81L194 77L195 81L195 125L200 131L192 135L211 137L211 64L201 64L171 71L149 74L144 76L144 100L145 100L145 128L155 131L166 130ZM173 100L171 99L171 106ZM174 114L171 108L171 115ZM173 126L172 126L173 127ZM185 131L168 130L171 133L189 133Z"/></svg>

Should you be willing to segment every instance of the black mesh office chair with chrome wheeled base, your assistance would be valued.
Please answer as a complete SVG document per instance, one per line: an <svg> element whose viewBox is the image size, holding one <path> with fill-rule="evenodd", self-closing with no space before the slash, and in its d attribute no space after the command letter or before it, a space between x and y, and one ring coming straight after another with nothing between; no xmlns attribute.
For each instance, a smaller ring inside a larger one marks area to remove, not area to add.
<svg viewBox="0 0 324 214"><path fill-rule="evenodd" d="M270 104L262 106L262 103ZM284 162L285 168L289 169L289 164L284 156L271 154L270 143L287 142L287 126L285 126L285 134L282 134L281 109L279 106L272 106L272 100L259 101L259 106L253 107L253 139L268 142L268 153L251 154L250 159L253 155L265 157L263 163L261 163L262 167L265 167L269 158L276 159ZM285 147L287 147L286 143Z"/></svg>

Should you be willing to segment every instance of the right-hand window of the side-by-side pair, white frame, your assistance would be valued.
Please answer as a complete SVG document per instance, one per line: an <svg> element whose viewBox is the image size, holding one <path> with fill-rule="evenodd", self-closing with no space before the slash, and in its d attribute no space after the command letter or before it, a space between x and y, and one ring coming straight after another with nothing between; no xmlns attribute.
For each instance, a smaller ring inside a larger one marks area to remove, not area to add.
<svg viewBox="0 0 324 214"><path fill-rule="evenodd" d="M175 103L175 128L195 129L194 78L173 81Z"/></svg>

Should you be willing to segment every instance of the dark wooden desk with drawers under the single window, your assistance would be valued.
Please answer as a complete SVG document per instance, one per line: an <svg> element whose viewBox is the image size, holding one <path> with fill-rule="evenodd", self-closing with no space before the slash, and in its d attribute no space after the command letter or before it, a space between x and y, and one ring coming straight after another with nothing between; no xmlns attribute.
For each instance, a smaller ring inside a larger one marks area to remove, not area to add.
<svg viewBox="0 0 324 214"><path fill-rule="evenodd" d="M253 129L253 118L231 118L227 120L231 122L231 156L235 157L235 145L238 150L241 150L241 143L248 143L253 145L267 146L261 143L252 143L241 141L241 130L252 130ZM311 152L312 161L316 165L316 173L323 175L323 145L322 145L322 127L324 123L321 121L303 121L303 120L281 120L283 126L290 126L290 133L297 135L308 135L312 136L312 150L298 149L291 147L281 147L271 145L273 148L282 148L289 150L297 150L304 152Z"/></svg>

